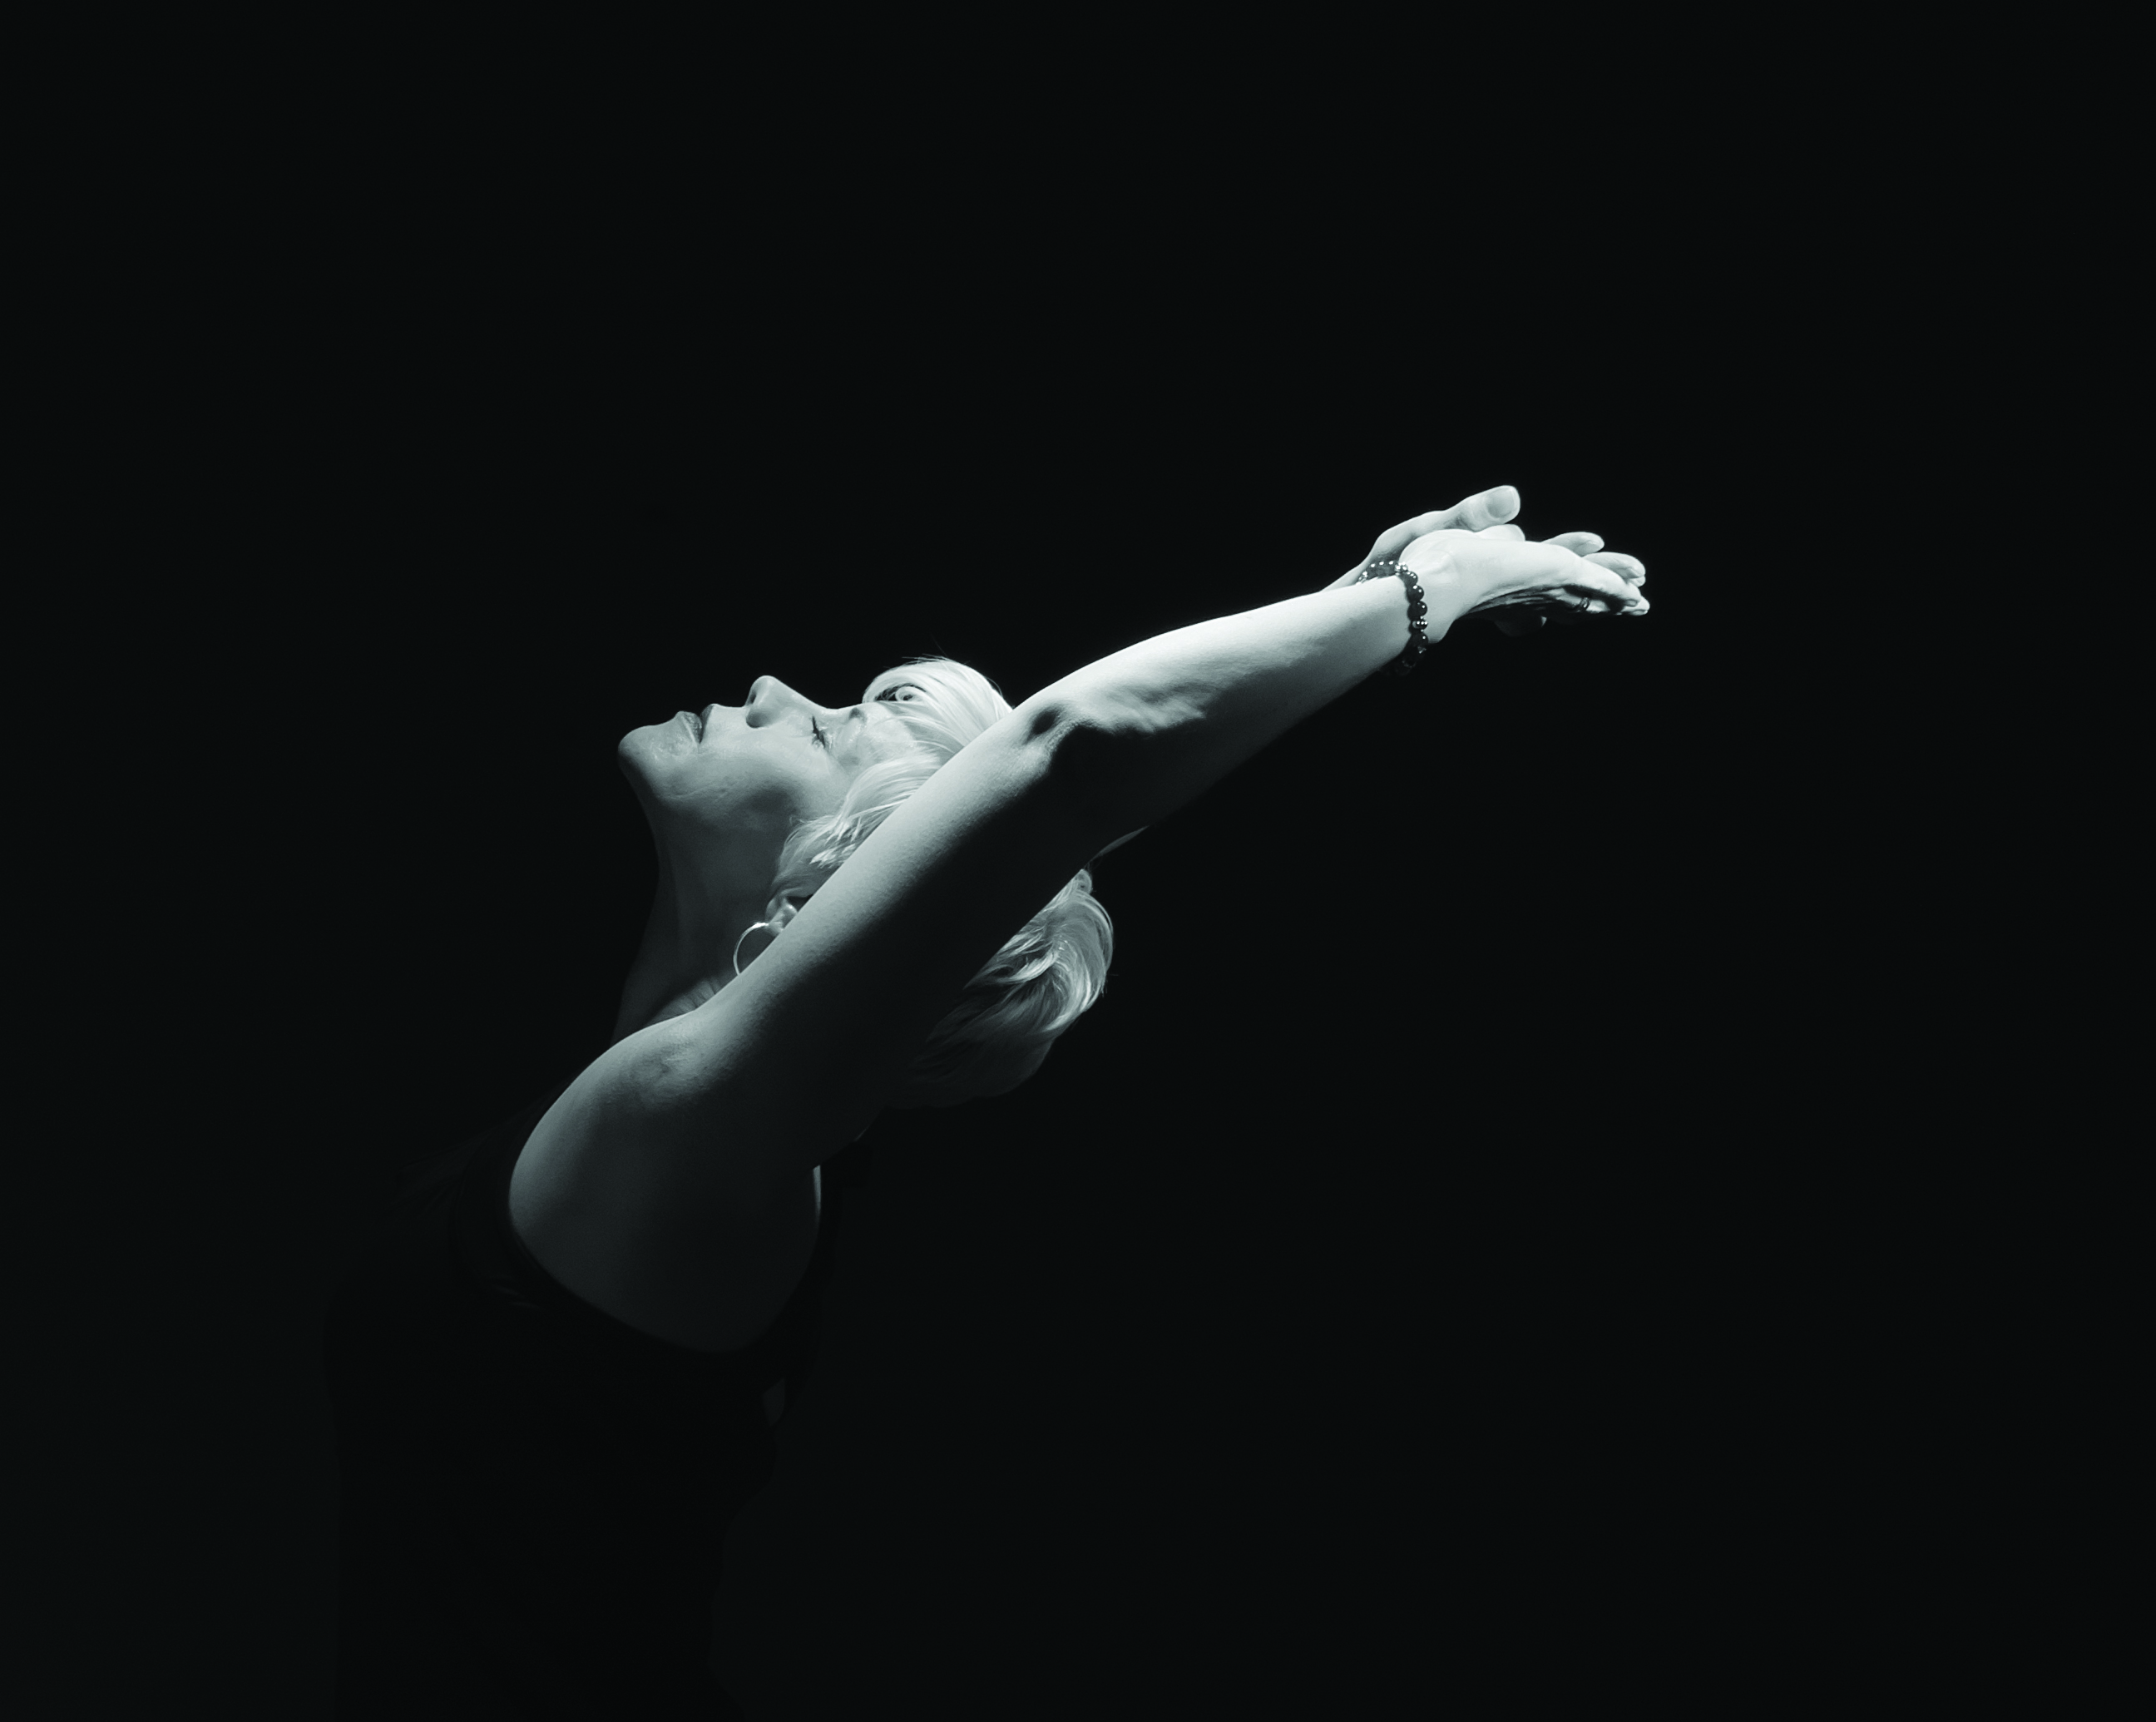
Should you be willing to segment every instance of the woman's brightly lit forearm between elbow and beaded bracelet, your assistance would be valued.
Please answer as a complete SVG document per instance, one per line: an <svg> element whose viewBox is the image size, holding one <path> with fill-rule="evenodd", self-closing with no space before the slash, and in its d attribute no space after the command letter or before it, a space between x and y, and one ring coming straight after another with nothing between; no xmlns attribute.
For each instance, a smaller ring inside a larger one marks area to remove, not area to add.
<svg viewBox="0 0 2156 1722"><path fill-rule="evenodd" d="M1429 597L1425 636L1451 627ZM1110 653L1033 698L1067 711L1100 769L1087 789L1119 830L1151 825L1391 664L1408 647L1397 578L1177 627Z"/></svg>

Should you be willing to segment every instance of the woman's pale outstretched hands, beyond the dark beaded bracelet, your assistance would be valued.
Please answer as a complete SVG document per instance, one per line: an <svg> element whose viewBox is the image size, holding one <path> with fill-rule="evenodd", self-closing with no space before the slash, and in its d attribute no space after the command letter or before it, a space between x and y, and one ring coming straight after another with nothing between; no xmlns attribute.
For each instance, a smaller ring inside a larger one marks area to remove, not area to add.
<svg viewBox="0 0 2156 1722"><path fill-rule="evenodd" d="M1332 586L1352 586L1371 563L1395 556L1406 556L1408 567L1427 578L1432 569L1442 567L1432 552L1445 550L1453 563L1447 578L1473 582L1477 593L1466 614L1488 614L1501 634L1533 634L1552 614L1570 625L1591 614L1647 612L1647 599L1636 591L1647 582L1645 563L1617 550L1602 550L1598 532L1559 532L1554 539L1533 541L1509 524L1516 513L1520 513L1520 491L1498 485L1451 509L1404 519L1380 532L1369 556ZM1427 539L1423 550L1408 556L1408 547L1421 539ZM1507 543L1533 550L1505 550Z"/></svg>

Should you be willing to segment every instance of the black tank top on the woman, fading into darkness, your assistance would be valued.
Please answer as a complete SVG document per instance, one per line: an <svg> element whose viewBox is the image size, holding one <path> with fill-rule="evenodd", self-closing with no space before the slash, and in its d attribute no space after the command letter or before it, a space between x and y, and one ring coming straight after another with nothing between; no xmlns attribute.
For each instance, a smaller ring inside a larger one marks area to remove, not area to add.
<svg viewBox="0 0 2156 1722"><path fill-rule="evenodd" d="M772 1328L688 1351L582 1302L509 1226L509 1170L573 1080L410 1164L330 1295L338 1718L740 1716L707 1668L720 1550L778 1457L765 1388L789 1412L806 1390L867 1155L826 1162Z"/></svg>

